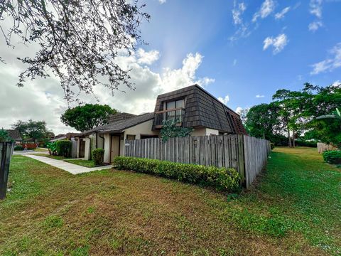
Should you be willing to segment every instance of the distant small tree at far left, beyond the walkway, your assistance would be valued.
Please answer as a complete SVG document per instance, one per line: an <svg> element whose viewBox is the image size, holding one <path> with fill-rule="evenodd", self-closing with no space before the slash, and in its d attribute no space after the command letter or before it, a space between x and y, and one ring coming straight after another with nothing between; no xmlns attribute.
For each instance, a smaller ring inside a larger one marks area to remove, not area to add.
<svg viewBox="0 0 341 256"><path fill-rule="evenodd" d="M17 129L23 139L33 139L34 142L38 142L50 134L45 121L33 121L32 119L28 122L18 120L16 124L12 124L12 129Z"/></svg>

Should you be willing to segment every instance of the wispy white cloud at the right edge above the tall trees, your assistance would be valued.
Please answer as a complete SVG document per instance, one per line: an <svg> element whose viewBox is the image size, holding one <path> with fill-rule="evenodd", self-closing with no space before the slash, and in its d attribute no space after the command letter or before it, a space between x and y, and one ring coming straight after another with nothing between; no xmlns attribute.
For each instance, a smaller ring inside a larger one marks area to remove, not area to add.
<svg viewBox="0 0 341 256"><path fill-rule="evenodd" d="M332 72L335 68L341 67L341 43L337 43L331 50L329 50L329 58L311 65L313 70L310 75L317 75L326 71Z"/></svg>

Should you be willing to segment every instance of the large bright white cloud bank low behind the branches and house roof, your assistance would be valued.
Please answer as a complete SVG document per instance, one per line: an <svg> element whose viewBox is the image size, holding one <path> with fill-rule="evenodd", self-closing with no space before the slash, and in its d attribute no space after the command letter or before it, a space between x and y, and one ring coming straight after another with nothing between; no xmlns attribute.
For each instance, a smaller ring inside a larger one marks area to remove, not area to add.
<svg viewBox="0 0 341 256"><path fill-rule="evenodd" d="M30 48L31 49L31 48ZM26 121L45 120L48 129L55 134L74 132L71 127L66 127L60 122L60 115L67 110L63 90L58 78L36 79L28 81L23 88L15 86L18 74L23 70L23 64L16 60L16 56L24 56L28 48L19 45L16 51L9 50L4 42L0 42L0 55L6 59L6 65L0 63L0 124L4 129L11 127L18 119ZM134 82L135 90L129 90L124 85L119 87L122 91L111 91L102 85L94 87L94 95L82 93L79 98L86 103L107 104L122 112L141 114L153 112L157 95L176 90L195 83L206 86L215 80L212 78L197 78L197 68L202 63L200 53L189 53L178 69L163 69L153 72L150 63L157 60L156 50L138 50L133 55L119 55L117 63L122 68L131 69L129 75ZM72 103L70 107L75 107Z"/></svg>

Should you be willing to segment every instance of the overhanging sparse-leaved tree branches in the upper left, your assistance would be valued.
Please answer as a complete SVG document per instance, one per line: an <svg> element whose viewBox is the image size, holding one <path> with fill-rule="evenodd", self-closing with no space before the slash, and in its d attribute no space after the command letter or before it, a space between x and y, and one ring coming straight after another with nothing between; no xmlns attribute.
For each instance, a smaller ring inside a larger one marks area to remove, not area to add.
<svg viewBox="0 0 341 256"><path fill-rule="evenodd" d="M122 51L131 55L136 43L144 43L139 26L150 18L142 11L144 6L137 0L0 1L0 22L12 24L6 31L0 23L7 45L15 48L12 38L21 38L24 44L40 46L33 58L18 56L28 65L18 86L28 78L46 78L52 70L67 101L77 97L75 88L86 93L92 93L94 85L112 92L119 85L132 88L129 70L121 68L116 58Z"/></svg>

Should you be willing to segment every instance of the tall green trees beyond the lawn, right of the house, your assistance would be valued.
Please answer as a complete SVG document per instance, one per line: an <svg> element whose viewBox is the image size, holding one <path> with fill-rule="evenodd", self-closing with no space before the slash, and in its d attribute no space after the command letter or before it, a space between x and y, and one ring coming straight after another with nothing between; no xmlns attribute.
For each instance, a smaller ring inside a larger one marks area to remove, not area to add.
<svg viewBox="0 0 341 256"><path fill-rule="evenodd" d="M341 146L341 120L318 118L340 108L341 84L320 87L307 82L301 90L277 90L272 100L241 113L249 135L282 146L296 146L297 139Z"/></svg>

